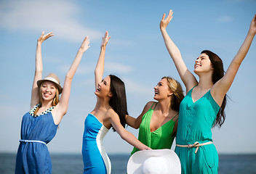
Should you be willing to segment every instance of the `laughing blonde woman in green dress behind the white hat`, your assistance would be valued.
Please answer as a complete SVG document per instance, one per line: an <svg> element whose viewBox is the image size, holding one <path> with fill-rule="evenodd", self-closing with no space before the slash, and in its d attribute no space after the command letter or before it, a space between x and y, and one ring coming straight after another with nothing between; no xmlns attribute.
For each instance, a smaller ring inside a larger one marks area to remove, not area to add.
<svg viewBox="0 0 256 174"><path fill-rule="evenodd" d="M177 80L162 78L154 87L155 101L145 104L143 112L135 119L127 115L127 125L140 128L138 140L151 149L171 149L177 132L180 102L183 89ZM139 151L134 148L132 154Z"/></svg>

